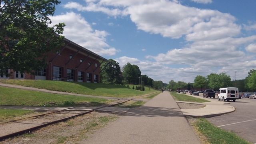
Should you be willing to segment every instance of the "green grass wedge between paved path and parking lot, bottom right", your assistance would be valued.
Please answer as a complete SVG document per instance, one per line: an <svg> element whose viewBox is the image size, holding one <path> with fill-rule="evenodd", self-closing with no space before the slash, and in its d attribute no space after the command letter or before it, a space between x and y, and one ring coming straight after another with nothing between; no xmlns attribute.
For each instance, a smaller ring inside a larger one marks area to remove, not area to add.
<svg viewBox="0 0 256 144"><path fill-rule="evenodd" d="M217 128L202 118L196 121L195 126L207 138L210 144L250 144L246 140L238 137L235 133Z"/></svg>

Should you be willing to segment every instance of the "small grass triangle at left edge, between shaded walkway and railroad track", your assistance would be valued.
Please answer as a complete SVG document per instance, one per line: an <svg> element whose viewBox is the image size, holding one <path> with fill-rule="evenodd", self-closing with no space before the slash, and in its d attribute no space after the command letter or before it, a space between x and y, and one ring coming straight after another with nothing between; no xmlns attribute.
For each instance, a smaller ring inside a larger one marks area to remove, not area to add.
<svg viewBox="0 0 256 144"><path fill-rule="evenodd" d="M19 109L0 109L0 121L16 116L23 116L25 114L31 114L33 110L19 110Z"/></svg>

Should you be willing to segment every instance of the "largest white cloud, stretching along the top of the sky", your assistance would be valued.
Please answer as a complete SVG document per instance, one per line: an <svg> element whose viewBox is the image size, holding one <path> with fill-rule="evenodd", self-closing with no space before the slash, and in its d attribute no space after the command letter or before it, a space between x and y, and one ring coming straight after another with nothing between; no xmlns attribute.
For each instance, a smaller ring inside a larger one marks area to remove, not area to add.
<svg viewBox="0 0 256 144"><path fill-rule="evenodd" d="M86 6L68 2L64 7L114 17L129 15L139 30L170 38L185 36L188 41L232 37L241 29L230 14L183 6L176 0L98 0Z"/></svg>

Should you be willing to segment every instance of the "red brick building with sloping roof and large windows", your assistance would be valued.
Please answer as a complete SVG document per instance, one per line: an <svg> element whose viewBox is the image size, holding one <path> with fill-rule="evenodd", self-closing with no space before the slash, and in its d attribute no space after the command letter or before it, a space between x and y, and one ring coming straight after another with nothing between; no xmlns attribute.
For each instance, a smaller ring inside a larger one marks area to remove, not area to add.
<svg viewBox="0 0 256 144"><path fill-rule="evenodd" d="M8 71L1 79L62 80L77 82L100 82L100 65L106 58L64 38L64 46L56 52L47 53L47 67L35 74Z"/></svg>

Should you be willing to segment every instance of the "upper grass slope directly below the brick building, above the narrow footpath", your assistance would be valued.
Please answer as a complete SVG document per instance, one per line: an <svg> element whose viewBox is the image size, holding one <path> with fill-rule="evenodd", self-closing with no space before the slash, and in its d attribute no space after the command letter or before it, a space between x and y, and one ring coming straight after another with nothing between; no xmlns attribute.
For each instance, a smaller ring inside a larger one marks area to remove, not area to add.
<svg viewBox="0 0 256 144"><path fill-rule="evenodd" d="M102 83L85 83L85 82L62 82L52 80L0 80L1 83L42 88L60 92L70 92L76 94L88 94L95 96L111 96L126 98L140 96L156 92L156 90L145 87L145 91L132 90L133 85L129 88L121 85L102 84Z"/></svg>

